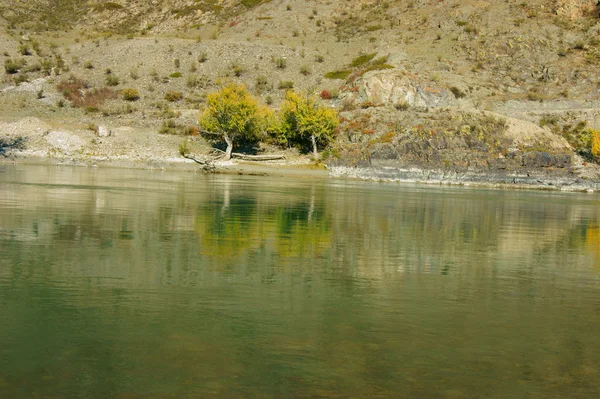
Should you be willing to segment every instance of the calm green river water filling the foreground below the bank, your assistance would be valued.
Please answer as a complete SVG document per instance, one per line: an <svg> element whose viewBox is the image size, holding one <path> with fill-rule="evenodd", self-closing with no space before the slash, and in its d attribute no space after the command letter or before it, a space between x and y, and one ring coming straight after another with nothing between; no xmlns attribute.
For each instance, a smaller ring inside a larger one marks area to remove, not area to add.
<svg viewBox="0 0 600 399"><path fill-rule="evenodd" d="M600 197L0 166L0 398L598 398Z"/></svg>

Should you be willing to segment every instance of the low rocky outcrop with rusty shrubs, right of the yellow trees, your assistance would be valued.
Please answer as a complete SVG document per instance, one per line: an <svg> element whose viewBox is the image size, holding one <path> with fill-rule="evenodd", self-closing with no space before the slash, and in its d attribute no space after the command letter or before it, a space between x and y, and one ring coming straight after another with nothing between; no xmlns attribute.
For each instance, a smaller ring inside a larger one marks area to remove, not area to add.
<svg viewBox="0 0 600 399"><path fill-rule="evenodd" d="M450 174L573 174L574 153L566 140L531 122L458 108L413 113L378 107L365 112L371 117L362 125L352 122L364 119L360 112L342 125L348 141L339 143L329 166L368 168L369 174L391 179L407 168ZM349 131L354 125L361 130ZM390 126L395 130L385 133Z"/></svg>

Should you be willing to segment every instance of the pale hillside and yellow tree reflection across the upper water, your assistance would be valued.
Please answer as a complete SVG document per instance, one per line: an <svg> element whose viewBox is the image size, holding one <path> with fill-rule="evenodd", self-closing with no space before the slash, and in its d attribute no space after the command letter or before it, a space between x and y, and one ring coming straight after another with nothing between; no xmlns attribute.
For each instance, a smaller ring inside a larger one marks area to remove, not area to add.
<svg viewBox="0 0 600 399"><path fill-rule="evenodd" d="M597 224L581 222L595 209L556 195L283 180L265 189L253 179L111 172L15 174L0 190L3 245L18 252L35 243L29 255L62 259L58 274L133 284L195 284L212 271L261 264L274 273L318 265L377 279L493 275L505 267L498 259L531 264L598 247ZM595 262L578 256L581 267Z"/></svg>

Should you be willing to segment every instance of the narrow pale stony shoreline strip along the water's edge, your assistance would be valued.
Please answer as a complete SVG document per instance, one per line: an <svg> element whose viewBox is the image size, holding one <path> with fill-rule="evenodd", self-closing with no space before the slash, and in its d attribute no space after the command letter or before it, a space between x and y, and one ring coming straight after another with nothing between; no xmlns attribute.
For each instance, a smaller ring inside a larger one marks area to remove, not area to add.
<svg viewBox="0 0 600 399"><path fill-rule="evenodd" d="M371 181L394 184L423 184L463 187L481 187L517 190L544 190L559 192L600 192L600 180L573 176L552 176L547 173L501 174L481 171L444 171L424 168L400 167L343 167L326 166L309 162L251 162L230 161L216 163L214 172L205 172L191 160L157 158L132 160L129 157L87 159L52 158L32 154L13 154L0 158L0 165L75 166L107 169L142 169L161 171L186 171L225 175L268 176L283 178L320 178L354 181Z"/></svg>

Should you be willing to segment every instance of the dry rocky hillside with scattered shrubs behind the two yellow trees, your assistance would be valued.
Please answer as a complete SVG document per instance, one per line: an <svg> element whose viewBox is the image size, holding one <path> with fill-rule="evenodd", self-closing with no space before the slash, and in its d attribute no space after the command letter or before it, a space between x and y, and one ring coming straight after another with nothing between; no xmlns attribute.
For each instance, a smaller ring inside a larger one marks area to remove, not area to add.
<svg viewBox="0 0 600 399"><path fill-rule="evenodd" d="M239 80L273 107L296 88L338 108L332 163L575 173L600 127L598 14L593 0L0 0L0 118L193 133L206 93Z"/></svg>

